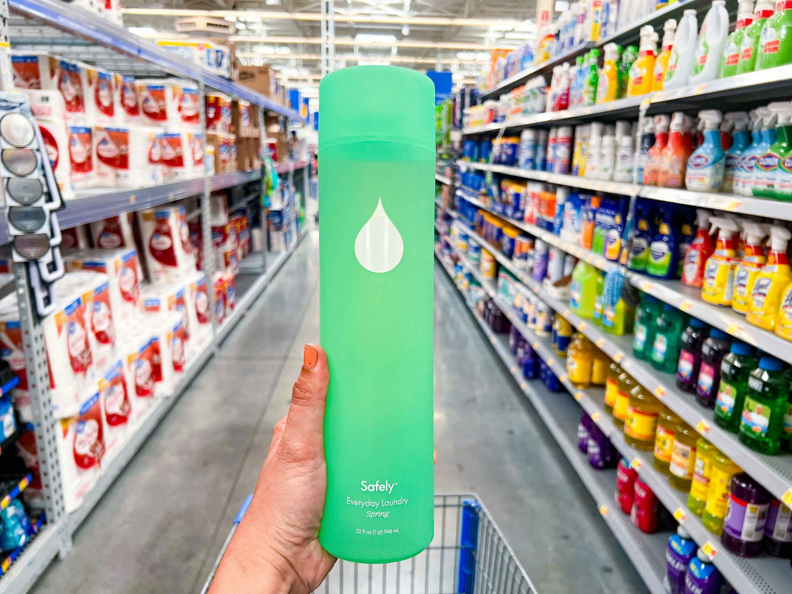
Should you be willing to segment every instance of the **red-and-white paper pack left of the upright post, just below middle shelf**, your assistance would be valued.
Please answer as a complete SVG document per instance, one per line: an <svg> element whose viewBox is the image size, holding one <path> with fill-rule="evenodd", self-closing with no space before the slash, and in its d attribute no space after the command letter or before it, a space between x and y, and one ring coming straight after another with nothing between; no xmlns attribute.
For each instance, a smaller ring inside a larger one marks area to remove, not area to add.
<svg viewBox="0 0 792 594"><path fill-rule="evenodd" d="M195 269L185 209L164 207L140 211L139 221L151 282L184 283Z"/></svg>

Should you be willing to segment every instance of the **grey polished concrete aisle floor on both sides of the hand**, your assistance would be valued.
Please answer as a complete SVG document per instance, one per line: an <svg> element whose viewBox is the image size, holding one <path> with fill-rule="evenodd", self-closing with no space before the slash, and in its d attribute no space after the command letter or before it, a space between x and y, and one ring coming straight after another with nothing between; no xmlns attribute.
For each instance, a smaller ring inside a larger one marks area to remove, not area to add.
<svg viewBox="0 0 792 594"><path fill-rule="evenodd" d="M478 493L539 592L638 592L588 491L436 265L436 493ZM318 340L306 238L32 592L197 592ZM379 591L379 588L377 589Z"/></svg>

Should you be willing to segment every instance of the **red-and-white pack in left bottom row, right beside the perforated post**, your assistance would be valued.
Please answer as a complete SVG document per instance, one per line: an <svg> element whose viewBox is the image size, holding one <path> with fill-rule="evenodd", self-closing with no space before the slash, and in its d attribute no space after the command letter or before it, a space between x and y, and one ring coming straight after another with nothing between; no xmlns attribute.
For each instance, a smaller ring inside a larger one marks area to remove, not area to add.
<svg viewBox="0 0 792 594"><path fill-rule="evenodd" d="M101 478L105 429L97 389L74 416L60 420L55 432L66 512L74 512Z"/></svg>

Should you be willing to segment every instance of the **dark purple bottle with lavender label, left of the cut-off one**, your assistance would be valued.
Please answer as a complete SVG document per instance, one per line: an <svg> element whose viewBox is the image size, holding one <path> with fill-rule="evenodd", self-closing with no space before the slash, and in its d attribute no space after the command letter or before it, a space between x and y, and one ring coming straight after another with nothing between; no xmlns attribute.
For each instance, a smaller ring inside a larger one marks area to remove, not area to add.
<svg viewBox="0 0 792 594"><path fill-rule="evenodd" d="M748 473L732 477L721 535L721 542L727 549L741 557L756 557L762 552L770 500L770 493Z"/></svg>

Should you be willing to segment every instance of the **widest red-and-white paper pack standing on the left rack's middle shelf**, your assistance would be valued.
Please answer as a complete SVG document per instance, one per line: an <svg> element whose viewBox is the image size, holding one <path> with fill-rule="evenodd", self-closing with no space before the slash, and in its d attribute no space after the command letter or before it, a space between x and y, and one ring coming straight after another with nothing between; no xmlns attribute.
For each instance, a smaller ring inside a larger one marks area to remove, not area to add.
<svg viewBox="0 0 792 594"><path fill-rule="evenodd" d="M130 126L93 128L97 185L145 188L161 184L162 132Z"/></svg>

